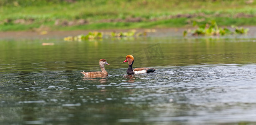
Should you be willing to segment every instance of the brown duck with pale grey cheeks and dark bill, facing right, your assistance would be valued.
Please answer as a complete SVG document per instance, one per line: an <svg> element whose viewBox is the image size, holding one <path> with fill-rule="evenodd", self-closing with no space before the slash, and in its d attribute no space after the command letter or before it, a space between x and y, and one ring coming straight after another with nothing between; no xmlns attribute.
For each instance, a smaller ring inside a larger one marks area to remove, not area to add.
<svg viewBox="0 0 256 125"><path fill-rule="evenodd" d="M108 72L106 72L105 70L105 65L109 65L108 62L106 62L105 59L100 59L99 60L99 66L101 67L101 71L99 72L81 72L82 74L84 74L84 76L87 77L103 77L103 76L108 76Z"/></svg>

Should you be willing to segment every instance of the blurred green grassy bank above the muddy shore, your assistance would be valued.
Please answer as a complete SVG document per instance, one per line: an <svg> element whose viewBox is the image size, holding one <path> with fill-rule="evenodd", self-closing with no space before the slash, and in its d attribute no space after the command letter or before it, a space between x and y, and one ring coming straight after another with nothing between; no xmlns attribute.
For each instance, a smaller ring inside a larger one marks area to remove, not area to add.
<svg viewBox="0 0 256 125"><path fill-rule="evenodd" d="M256 25L253 0L0 0L0 31Z"/></svg>

